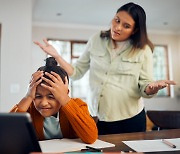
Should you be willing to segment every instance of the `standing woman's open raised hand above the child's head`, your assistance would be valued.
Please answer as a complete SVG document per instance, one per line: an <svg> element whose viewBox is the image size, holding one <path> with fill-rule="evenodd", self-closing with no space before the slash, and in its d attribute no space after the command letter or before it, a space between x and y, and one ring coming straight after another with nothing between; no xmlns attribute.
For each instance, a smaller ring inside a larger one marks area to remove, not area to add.
<svg viewBox="0 0 180 154"><path fill-rule="evenodd" d="M59 56L57 50L51 44L49 44L46 39L43 39L43 42L45 43L45 45L41 44L38 41L34 41L34 43L38 45L45 53L51 55L54 58Z"/></svg>

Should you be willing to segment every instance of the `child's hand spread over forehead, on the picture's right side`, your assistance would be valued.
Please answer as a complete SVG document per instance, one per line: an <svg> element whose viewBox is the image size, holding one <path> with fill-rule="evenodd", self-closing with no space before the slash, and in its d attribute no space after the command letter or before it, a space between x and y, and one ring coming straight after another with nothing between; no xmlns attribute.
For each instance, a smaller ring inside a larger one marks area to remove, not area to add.
<svg viewBox="0 0 180 154"><path fill-rule="evenodd" d="M47 73L45 74L52 80L49 80L45 77L42 77L42 79L47 82L49 85L41 84L44 88L51 91L51 93L54 95L56 100L63 106L65 105L69 100L70 97L68 96L68 81L67 78L65 78L65 84L63 83L61 77L56 74L55 72Z"/></svg>

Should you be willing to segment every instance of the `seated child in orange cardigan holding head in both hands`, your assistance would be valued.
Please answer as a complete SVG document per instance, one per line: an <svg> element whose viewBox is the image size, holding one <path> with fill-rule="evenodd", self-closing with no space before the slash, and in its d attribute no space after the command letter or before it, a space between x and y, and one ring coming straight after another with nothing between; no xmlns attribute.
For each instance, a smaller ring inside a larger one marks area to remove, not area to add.
<svg viewBox="0 0 180 154"><path fill-rule="evenodd" d="M39 140L81 138L85 143L97 139L96 123L86 103L68 96L68 75L53 57L32 75L26 96L11 112L30 113Z"/></svg>

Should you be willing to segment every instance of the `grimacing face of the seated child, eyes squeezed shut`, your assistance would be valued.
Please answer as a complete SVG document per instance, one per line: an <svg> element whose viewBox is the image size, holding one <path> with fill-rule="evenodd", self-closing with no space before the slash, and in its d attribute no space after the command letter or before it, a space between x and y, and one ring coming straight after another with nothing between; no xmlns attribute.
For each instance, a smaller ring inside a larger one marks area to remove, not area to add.
<svg viewBox="0 0 180 154"><path fill-rule="evenodd" d="M52 93L41 85L37 86L34 106L43 117L55 115L61 107Z"/></svg>

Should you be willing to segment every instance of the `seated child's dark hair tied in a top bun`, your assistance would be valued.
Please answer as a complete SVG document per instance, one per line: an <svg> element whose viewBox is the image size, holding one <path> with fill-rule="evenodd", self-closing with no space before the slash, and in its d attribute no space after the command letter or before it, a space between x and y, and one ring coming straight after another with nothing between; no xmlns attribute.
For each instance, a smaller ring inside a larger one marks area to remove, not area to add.
<svg viewBox="0 0 180 154"><path fill-rule="evenodd" d="M68 77L67 72L61 66L57 66L57 61L55 60L54 57L46 58L46 65L40 67L38 69L38 71L44 71L44 72L48 72L48 73L51 73L51 71L55 72L61 77L61 79L64 83L65 83L65 77L67 77L68 82L69 82L69 77ZM44 74L44 77L50 79L45 74Z"/></svg>

